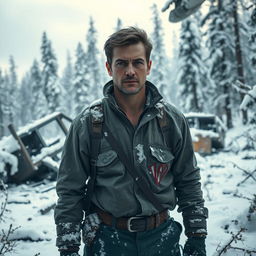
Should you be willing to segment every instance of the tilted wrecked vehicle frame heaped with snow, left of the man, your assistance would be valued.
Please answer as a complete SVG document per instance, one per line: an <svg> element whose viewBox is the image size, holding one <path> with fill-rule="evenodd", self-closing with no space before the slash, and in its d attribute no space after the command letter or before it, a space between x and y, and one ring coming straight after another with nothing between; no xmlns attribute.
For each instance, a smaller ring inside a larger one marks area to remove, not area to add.
<svg viewBox="0 0 256 256"><path fill-rule="evenodd" d="M8 183L54 180L72 119L63 113L47 115L15 130L0 141L0 175Z"/></svg>

